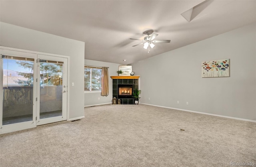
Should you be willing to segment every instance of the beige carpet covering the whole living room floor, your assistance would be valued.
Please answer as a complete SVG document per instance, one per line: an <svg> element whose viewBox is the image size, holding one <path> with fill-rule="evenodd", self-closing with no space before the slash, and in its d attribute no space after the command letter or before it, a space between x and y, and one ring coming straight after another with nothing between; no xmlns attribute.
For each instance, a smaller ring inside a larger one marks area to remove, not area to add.
<svg viewBox="0 0 256 167"><path fill-rule="evenodd" d="M0 135L0 166L256 166L256 123L143 104L84 111L80 121Z"/></svg>

